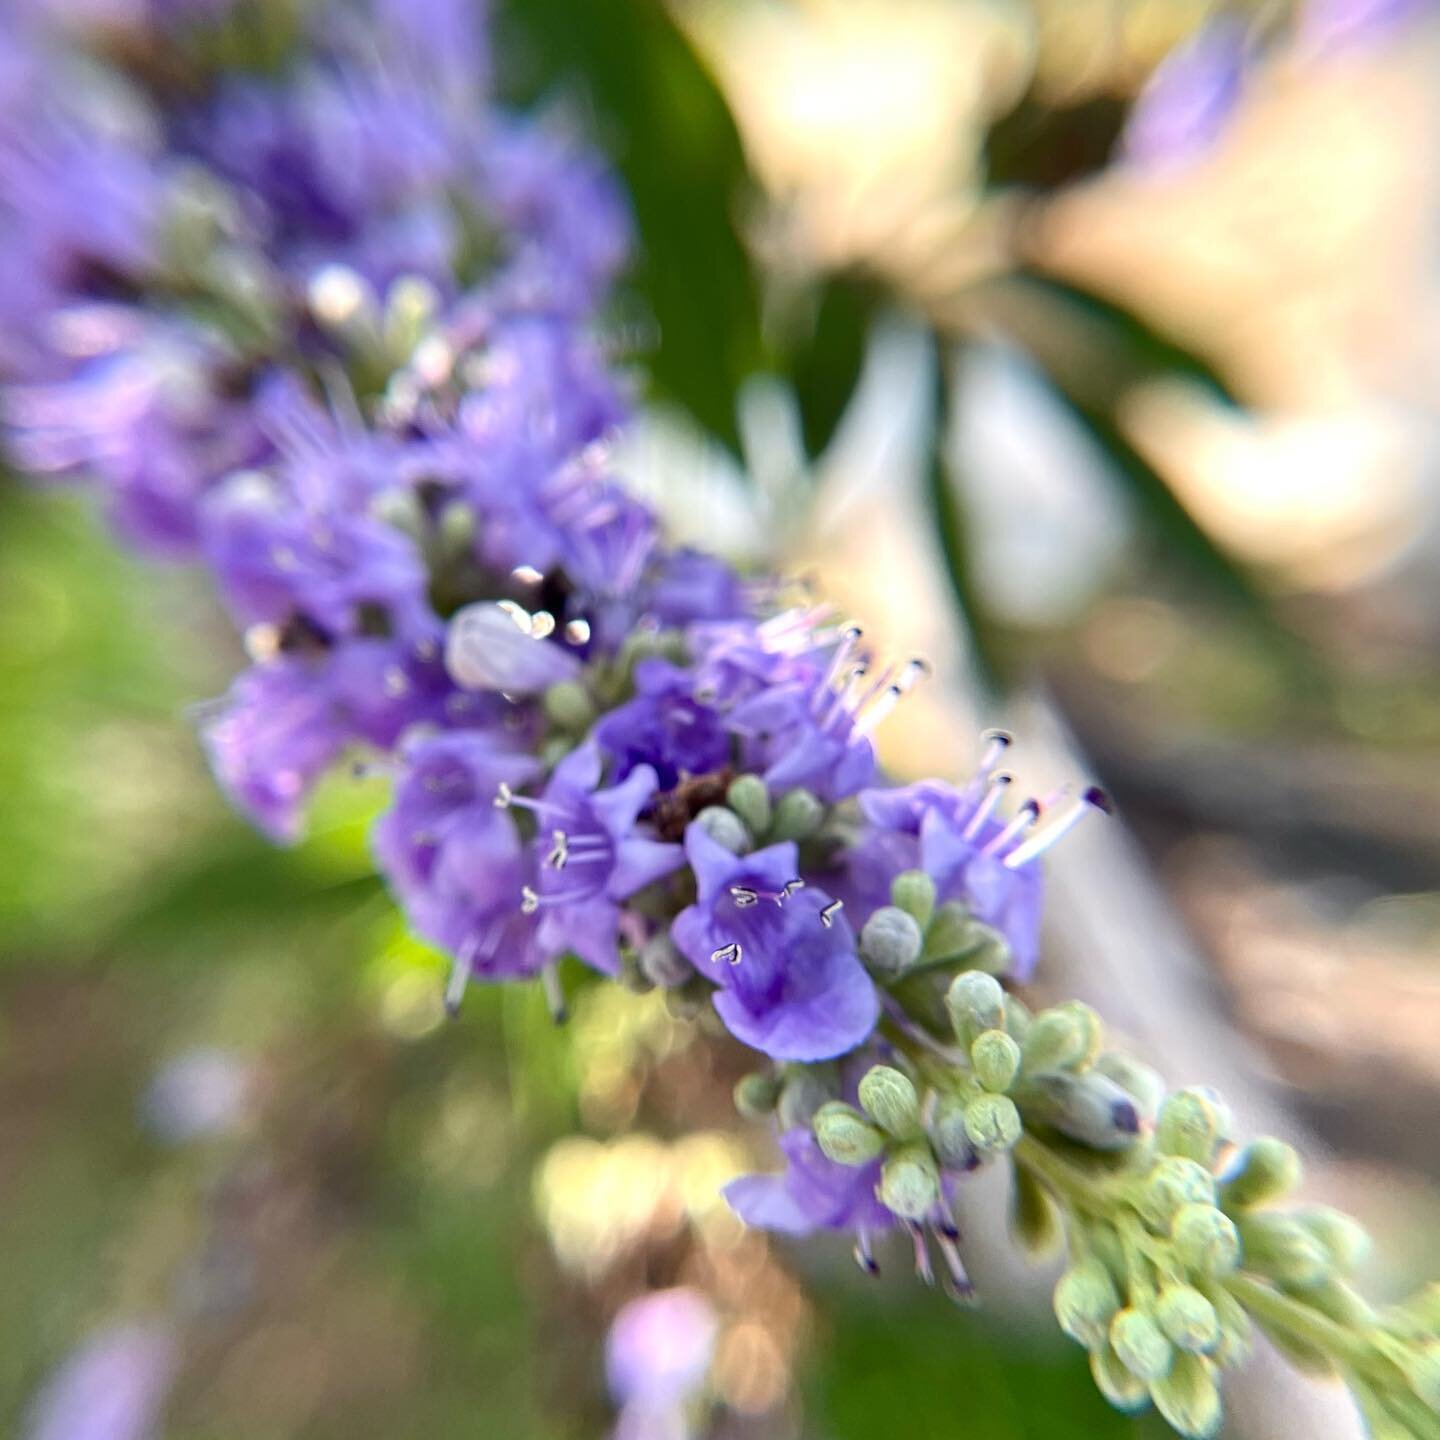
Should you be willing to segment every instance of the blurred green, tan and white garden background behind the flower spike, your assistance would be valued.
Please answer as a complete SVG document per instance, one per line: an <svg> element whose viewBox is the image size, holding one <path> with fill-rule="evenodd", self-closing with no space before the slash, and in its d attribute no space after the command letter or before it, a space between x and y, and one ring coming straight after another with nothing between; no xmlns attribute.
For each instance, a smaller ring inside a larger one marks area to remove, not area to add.
<svg viewBox="0 0 1440 1440"><path fill-rule="evenodd" d="M1440 7L497 23L501 89L632 196L625 474L933 661L897 775L998 721L1022 779L1106 785L1040 989L1296 1138L1377 1293L1440 1272ZM603 1436L606 1325L685 1286L698 1433L1161 1433L1053 1338L999 1197L978 1318L900 1256L743 1233L744 1057L654 996L444 1022L367 858L380 782L294 851L213 791L192 710L239 664L194 576L0 481L0 1430ZM1354 1433L1240 1388L1227 1434Z"/></svg>

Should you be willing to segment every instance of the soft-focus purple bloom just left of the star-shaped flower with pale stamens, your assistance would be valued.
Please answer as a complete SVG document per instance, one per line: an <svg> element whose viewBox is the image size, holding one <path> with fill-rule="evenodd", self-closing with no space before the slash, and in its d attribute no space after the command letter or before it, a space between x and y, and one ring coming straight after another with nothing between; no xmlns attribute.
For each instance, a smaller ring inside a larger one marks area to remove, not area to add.
<svg viewBox="0 0 1440 1440"><path fill-rule="evenodd" d="M373 845L412 924L456 958L462 976L533 975L541 956L521 903L534 865L495 801L530 779L536 762L462 730L410 742L403 763Z"/></svg>

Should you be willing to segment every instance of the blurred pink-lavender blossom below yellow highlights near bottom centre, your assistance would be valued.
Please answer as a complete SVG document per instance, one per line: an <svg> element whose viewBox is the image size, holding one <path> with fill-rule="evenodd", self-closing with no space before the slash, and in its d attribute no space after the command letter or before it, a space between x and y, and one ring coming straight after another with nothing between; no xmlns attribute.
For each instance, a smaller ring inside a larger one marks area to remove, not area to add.
<svg viewBox="0 0 1440 1440"><path fill-rule="evenodd" d="M687 1286L631 1300L605 1341L611 1394L622 1405L683 1403L704 1384L717 1331L710 1302Z"/></svg>

